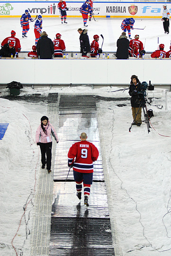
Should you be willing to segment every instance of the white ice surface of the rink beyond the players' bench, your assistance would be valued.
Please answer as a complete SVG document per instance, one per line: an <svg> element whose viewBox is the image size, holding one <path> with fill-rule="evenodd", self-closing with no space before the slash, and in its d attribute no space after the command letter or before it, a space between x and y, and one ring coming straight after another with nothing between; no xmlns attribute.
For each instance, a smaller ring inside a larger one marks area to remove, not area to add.
<svg viewBox="0 0 171 256"><path fill-rule="evenodd" d="M61 24L60 18L43 18L42 31L46 31L48 37L54 40L56 33L62 35L61 39L64 40L66 51L80 51L79 33L78 28L87 28L90 43L93 41L93 35L100 34L104 37L103 51L116 52L117 39L122 33L121 23L123 18L98 18L88 21L88 27L83 26L81 18L67 19L67 24ZM22 27L20 26L19 18L0 19L0 42L6 37L10 36L11 30L16 31L16 37L20 39L21 51L30 51L35 44L34 24L30 23L30 30L27 33L27 38L22 38ZM146 27L145 27L146 26ZM145 28L144 28L145 27ZM171 45L171 34L164 34L163 24L161 19L135 19L134 28L144 28L131 30L131 37L134 38L136 34L140 36L140 40L145 43L145 51L153 52L157 50L158 37L159 44L164 44L164 50L169 51ZM127 35L128 36L128 35ZM145 40L146 39L146 40ZM99 46L102 44L102 38L99 39Z"/></svg>

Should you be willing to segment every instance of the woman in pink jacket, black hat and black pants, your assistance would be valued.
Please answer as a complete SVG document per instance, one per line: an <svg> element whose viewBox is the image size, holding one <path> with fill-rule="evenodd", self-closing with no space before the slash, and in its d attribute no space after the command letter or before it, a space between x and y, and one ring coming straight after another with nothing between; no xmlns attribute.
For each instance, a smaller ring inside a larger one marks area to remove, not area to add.
<svg viewBox="0 0 171 256"><path fill-rule="evenodd" d="M51 159L52 159L52 136L56 143L58 143L58 137L52 124L49 123L49 119L46 116L41 118L41 124L36 130L36 143L40 146L42 155L42 169L47 167L47 172L51 172ZM46 157L45 157L46 154Z"/></svg>

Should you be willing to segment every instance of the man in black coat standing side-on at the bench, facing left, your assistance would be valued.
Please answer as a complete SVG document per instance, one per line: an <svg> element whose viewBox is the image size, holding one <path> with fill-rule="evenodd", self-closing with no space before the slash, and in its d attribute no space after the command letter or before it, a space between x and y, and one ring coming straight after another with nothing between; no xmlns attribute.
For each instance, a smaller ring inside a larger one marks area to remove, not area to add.
<svg viewBox="0 0 171 256"><path fill-rule="evenodd" d="M87 35L88 29L82 30L82 28L79 28L77 31L80 34L80 52L82 54L82 57L89 58L89 56L87 56L87 53L90 52L89 36Z"/></svg>

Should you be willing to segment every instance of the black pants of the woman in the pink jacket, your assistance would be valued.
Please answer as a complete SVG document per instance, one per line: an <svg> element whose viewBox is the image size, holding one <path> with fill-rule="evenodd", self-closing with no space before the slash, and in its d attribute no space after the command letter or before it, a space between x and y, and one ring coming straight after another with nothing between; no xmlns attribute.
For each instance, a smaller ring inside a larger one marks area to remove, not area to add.
<svg viewBox="0 0 171 256"><path fill-rule="evenodd" d="M52 142L41 143L40 142L40 150L42 155L42 165L45 165L47 170L51 169L51 159L52 159ZM46 154L46 157L45 157Z"/></svg>

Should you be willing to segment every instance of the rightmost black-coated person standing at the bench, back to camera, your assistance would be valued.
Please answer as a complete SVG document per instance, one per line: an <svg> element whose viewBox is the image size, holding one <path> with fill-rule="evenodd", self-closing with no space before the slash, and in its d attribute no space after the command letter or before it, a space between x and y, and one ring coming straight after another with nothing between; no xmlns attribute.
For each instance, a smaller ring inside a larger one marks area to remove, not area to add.
<svg viewBox="0 0 171 256"><path fill-rule="evenodd" d="M128 59L129 40L126 37L126 32L122 32L122 35L117 39L117 59Z"/></svg>

